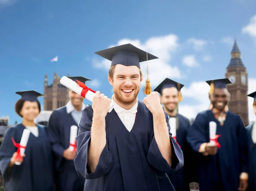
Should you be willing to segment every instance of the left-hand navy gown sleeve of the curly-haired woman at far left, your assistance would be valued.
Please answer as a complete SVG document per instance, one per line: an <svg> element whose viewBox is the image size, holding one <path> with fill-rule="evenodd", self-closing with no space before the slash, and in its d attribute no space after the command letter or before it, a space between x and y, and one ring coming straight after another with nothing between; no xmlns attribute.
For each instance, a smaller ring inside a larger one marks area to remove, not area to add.
<svg viewBox="0 0 256 191"><path fill-rule="evenodd" d="M8 177L11 174L12 169L8 169L8 165L13 153L15 153L17 150L12 143L12 137L15 137L15 129L10 127L6 131L2 145L0 146L0 170L3 177ZM16 165L14 165L12 168L15 168L15 166Z"/></svg>

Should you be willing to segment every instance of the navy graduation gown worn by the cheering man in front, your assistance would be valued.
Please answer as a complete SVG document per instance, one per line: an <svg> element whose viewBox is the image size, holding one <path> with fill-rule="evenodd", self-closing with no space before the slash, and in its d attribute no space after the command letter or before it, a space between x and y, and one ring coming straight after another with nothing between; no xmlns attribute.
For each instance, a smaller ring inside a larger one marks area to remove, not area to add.
<svg viewBox="0 0 256 191"><path fill-rule="evenodd" d="M74 160L76 171L86 178L84 191L175 191L166 173L172 174L183 167L183 153L170 134L173 160L172 167L168 165L154 138L153 116L143 102L138 102L131 132L115 110L107 114L106 146L95 172L90 173L87 156L92 118L92 107L87 105L79 123L78 152Z"/></svg>

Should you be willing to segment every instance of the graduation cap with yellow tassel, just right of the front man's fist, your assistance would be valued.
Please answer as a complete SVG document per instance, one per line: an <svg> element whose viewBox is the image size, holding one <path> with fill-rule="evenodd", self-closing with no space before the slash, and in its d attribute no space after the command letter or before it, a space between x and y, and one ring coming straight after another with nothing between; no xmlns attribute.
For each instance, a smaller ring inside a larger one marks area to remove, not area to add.
<svg viewBox="0 0 256 191"><path fill-rule="evenodd" d="M180 93L181 88L184 87L183 84L178 83L177 81L173 81L169 78L166 78L164 81L162 81L155 89L154 91L158 93L162 93L163 89L168 88L168 87L175 87L178 90L178 98L179 101L182 101L182 96Z"/></svg>

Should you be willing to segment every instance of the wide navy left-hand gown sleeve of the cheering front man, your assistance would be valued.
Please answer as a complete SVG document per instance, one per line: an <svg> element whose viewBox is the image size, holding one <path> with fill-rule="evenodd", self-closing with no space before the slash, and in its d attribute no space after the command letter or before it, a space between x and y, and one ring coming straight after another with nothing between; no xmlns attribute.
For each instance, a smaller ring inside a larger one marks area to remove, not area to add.
<svg viewBox="0 0 256 191"><path fill-rule="evenodd" d="M111 170L113 166L113 158L108 150L108 139L105 148L99 157L99 163L96 166L95 172L91 173L87 160L88 148L90 146L90 133L93 119L93 110L90 105L87 105L82 113L81 121L79 123L79 135L76 137L77 155L74 159L76 172L79 177L85 179L96 179L102 177Z"/></svg>

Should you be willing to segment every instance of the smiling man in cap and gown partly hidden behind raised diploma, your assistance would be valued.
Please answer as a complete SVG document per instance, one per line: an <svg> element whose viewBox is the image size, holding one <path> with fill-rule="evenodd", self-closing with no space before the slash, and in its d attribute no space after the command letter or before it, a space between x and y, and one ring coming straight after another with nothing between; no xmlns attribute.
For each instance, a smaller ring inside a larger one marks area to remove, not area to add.
<svg viewBox="0 0 256 191"><path fill-rule="evenodd" d="M68 77L73 81L79 80L83 83L89 79L74 76ZM48 128L52 150L55 153L55 166L58 172L59 191L81 191L84 188L84 179L76 173L74 159L76 150L70 150L70 127L78 126L82 111L85 108L84 98L69 90L70 101L66 106L54 110L49 118Z"/></svg>

